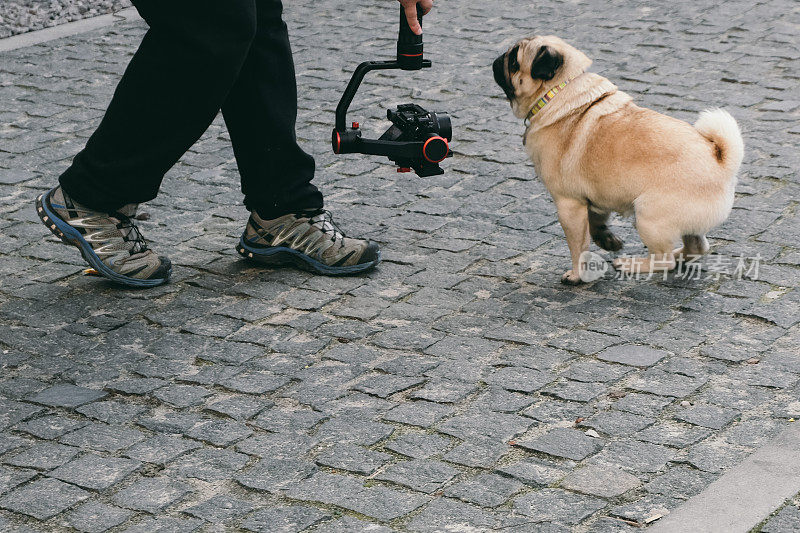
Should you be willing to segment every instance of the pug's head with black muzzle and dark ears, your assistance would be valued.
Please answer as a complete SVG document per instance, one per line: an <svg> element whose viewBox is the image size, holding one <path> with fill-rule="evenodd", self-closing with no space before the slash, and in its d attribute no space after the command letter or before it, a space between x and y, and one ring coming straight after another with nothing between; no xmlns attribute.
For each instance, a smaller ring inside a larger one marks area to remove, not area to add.
<svg viewBox="0 0 800 533"><path fill-rule="evenodd" d="M523 118L552 86L586 70L591 60L558 37L522 39L494 60L494 79Z"/></svg>

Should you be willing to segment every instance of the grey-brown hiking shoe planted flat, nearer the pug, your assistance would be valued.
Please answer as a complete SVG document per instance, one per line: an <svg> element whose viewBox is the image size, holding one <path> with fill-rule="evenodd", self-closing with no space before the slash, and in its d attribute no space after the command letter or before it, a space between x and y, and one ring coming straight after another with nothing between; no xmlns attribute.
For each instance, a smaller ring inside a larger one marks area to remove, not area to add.
<svg viewBox="0 0 800 533"><path fill-rule="evenodd" d="M236 251L261 264L294 265L328 276L358 274L381 261L376 243L345 237L321 209L272 220L253 211Z"/></svg>

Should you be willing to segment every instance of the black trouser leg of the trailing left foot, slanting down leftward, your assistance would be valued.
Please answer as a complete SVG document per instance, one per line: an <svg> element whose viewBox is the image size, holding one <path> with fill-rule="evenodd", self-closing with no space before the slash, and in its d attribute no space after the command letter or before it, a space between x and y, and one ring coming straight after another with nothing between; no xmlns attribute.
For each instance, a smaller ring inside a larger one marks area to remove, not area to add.
<svg viewBox="0 0 800 533"><path fill-rule="evenodd" d="M150 25L97 131L60 178L98 211L155 198L205 132L256 32L256 0L133 0Z"/></svg>

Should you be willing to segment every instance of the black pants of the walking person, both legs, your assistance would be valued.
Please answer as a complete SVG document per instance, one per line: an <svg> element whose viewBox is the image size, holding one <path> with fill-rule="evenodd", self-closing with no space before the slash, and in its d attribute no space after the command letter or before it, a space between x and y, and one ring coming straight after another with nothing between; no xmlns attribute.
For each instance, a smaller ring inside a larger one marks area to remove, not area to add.
<svg viewBox="0 0 800 533"><path fill-rule="evenodd" d="M262 217L322 207L298 145L297 85L280 0L133 0L150 25L86 148L60 178L101 211L152 200L220 109L245 205Z"/></svg>

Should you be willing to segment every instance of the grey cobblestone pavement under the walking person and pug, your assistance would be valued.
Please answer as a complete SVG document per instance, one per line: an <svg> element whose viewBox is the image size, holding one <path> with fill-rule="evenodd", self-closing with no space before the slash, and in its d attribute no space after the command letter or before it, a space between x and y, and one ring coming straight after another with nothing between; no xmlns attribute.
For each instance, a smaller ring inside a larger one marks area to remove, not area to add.
<svg viewBox="0 0 800 533"><path fill-rule="evenodd" d="M384 247L357 278L238 259L246 212L221 121L143 224L174 281L82 276L33 199L144 26L0 57L0 529L626 531L800 417L797 3L438 3L435 68L371 76L353 109L373 131L410 98L450 112L456 157L430 179L329 153L350 72L393 53L395 3L289 3L317 182L349 233ZM642 105L731 110L747 155L712 242L718 259L760 256L758 279L559 284L566 243L490 69L537 31Z"/></svg>

